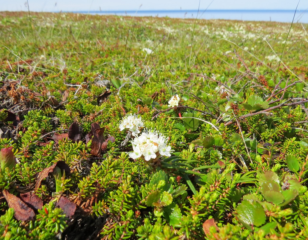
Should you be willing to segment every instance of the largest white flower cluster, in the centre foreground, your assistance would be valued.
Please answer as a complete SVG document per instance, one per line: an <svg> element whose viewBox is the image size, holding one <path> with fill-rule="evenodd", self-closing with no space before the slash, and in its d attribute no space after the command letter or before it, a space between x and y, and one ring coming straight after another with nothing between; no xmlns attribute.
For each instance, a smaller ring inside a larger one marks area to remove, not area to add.
<svg viewBox="0 0 308 240"><path fill-rule="evenodd" d="M171 156L171 146L167 146L168 138L157 131L147 130L131 141L133 152L129 157L133 159L144 158L145 161L156 160L160 156Z"/></svg>

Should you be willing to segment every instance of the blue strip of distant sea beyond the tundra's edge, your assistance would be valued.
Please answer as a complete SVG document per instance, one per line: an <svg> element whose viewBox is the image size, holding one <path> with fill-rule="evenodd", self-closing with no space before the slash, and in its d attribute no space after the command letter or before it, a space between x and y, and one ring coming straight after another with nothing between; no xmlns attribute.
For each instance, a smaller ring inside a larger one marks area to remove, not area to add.
<svg viewBox="0 0 308 240"><path fill-rule="evenodd" d="M295 10L136 10L136 11L78 11L75 13L152 16L169 18L230 19L243 21L292 22ZM308 10L297 10L294 22L308 23Z"/></svg>

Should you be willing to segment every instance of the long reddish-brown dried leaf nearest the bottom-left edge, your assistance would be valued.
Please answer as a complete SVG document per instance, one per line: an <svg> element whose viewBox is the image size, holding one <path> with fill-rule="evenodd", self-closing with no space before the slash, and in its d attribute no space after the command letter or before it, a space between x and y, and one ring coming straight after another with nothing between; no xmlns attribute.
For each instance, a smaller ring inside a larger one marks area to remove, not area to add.
<svg viewBox="0 0 308 240"><path fill-rule="evenodd" d="M22 200L13 194L10 194L7 190L3 190L3 195L9 204L9 207L14 209L14 216L18 221L29 221L34 218L34 211L22 202Z"/></svg>

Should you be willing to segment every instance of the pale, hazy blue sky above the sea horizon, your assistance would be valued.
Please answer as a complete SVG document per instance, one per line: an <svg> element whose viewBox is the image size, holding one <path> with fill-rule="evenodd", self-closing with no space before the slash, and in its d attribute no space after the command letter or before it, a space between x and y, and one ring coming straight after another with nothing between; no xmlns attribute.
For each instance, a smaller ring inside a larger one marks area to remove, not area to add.
<svg viewBox="0 0 308 240"><path fill-rule="evenodd" d="M27 11L26 0L2 0L0 11ZM111 11L111 10L197 10L199 0L28 0L30 11ZM200 10L257 9L295 10L297 1L291 0L201 0ZM301 0L299 10L308 8Z"/></svg>

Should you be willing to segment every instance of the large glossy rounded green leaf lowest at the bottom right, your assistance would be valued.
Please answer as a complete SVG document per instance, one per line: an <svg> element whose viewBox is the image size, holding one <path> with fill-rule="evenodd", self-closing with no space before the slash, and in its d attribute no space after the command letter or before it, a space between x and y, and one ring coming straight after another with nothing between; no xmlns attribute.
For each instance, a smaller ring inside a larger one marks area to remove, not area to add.
<svg viewBox="0 0 308 240"><path fill-rule="evenodd" d="M245 226L261 226L265 223L264 209L259 202L243 200L236 208L239 220Z"/></svg>

